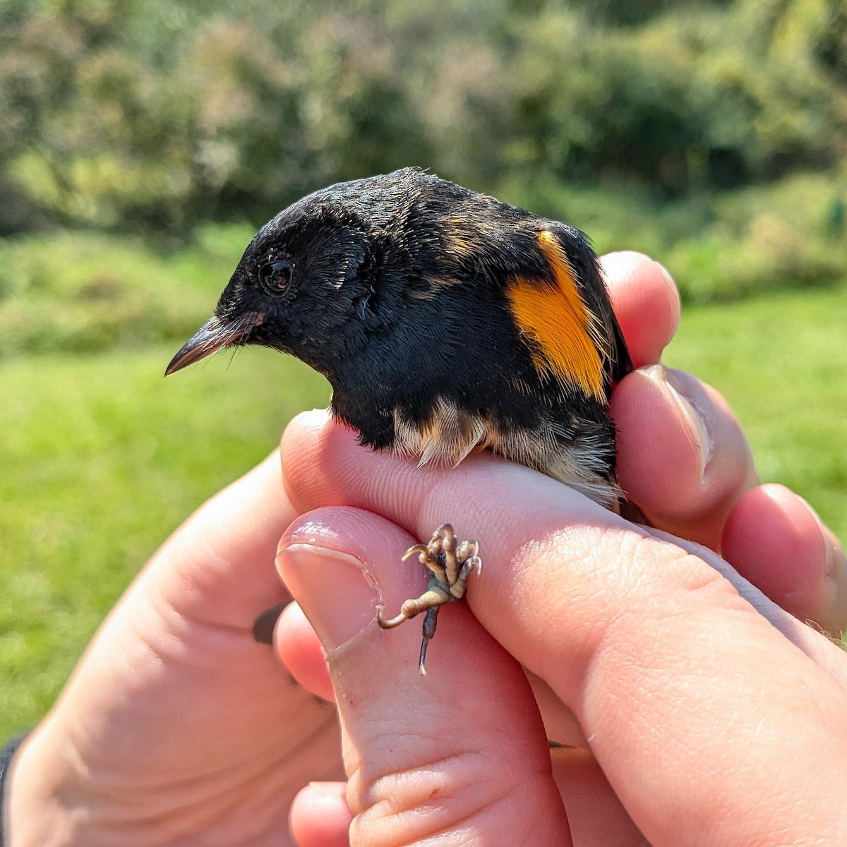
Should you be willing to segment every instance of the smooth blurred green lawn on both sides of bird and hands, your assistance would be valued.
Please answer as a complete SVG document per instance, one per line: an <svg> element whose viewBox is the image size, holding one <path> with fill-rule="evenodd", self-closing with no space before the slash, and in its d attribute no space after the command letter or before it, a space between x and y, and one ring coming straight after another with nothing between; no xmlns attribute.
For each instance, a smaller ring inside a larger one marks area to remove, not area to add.
<svg viewBox="0 0 847 847"><path fill-rule="evenodd" d="M667 363L716 385L763 479L847 537L847 284L692 307ZM0 363L0 738L44 713L113 601L324 381L248 350L162 378L173 346Z"/></svg>

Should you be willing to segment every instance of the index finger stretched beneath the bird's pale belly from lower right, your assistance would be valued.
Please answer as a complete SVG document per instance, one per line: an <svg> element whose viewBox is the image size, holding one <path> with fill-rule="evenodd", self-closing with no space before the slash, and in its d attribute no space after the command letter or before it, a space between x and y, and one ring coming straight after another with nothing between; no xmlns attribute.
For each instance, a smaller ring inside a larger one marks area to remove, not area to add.
<svg viewBox="0 0 847 847"><path fill-rule="evenodd" d="M479 537L473 612L575 712L651 843L729 847L774 827L800 843L847 826L831 803L847 756L844 656L734 577L736 589L717 556L527 468L483 455L416 469L317 415L296 418L282 457L301 507L363 507L418 538L451 520Z"/></svg>

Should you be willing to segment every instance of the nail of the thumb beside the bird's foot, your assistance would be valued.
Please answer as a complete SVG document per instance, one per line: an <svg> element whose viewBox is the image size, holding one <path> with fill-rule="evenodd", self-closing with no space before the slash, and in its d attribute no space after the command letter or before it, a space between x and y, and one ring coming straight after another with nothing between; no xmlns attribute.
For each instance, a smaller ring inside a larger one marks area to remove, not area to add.
<svg viewBox="0 0 847 847"><path fill-rule="evenodd" d="M297 542L280 550L277 567L327 654L376 620L379 592L357 556Z"/></svg>

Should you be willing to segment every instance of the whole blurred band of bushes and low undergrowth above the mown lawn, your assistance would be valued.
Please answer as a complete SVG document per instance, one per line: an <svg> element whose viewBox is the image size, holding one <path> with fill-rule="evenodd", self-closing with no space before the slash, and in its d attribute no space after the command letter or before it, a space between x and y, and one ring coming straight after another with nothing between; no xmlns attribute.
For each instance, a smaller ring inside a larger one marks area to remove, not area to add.
<svg viewBox="0 0 847 847"><path fill-rule="evenodd" d="M689 301L845 277L845 57L843 0L3 0L0 355L179 340L231 221L406 164Z"/></svg>

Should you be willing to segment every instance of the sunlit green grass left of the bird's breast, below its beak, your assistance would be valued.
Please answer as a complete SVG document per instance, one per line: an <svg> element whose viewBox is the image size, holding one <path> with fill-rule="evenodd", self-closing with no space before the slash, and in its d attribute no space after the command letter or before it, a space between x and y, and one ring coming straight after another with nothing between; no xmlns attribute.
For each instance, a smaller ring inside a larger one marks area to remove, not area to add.
<svg viewBox="0 0 847 847"><path fill-rule="evenodd" d="M163 379L173 352L0 363L0 738L42 715L170 531L329 399L261 350Z"/></svg>

